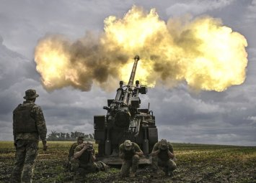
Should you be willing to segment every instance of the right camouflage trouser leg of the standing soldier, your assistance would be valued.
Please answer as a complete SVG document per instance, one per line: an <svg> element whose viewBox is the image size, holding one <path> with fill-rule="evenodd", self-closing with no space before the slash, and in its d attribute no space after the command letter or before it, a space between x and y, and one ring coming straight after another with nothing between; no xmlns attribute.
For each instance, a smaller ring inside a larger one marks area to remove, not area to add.
<svg viewBox="0 0 256 183"><path fill-rule="evenodd" d="M38 152L37 143L27 144L23 174L22 174L22 182L24 183L32 182L37 152Z"/></svg>

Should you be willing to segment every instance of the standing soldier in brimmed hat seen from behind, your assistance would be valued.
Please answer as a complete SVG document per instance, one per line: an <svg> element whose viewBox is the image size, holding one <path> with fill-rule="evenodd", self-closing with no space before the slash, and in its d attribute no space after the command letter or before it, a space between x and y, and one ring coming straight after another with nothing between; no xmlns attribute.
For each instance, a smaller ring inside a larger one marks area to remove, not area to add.
<svg viewBox="0 0 256 183"><path fill-rule="evenodd" d="M32 182L39 137L46 151L47 128L43 111L35 104L38 97L35 90L26 90L26 100L13 111L13 135L16 154L11 182Z"/></svg>

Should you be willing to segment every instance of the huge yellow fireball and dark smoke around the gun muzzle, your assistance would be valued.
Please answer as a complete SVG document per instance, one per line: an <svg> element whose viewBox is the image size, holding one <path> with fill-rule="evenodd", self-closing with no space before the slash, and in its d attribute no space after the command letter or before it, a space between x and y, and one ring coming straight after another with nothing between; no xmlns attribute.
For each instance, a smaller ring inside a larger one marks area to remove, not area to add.
<svg viewBox="0 0 256 183"><path fill-rule="evenodd" d="M47 90L92 85L112 90L128 81L133 57L139 55L136 80L154 87L186 81L194 90L223 91L246 77L247 41L212 17L159 19L154 9L133 6L121 19L105 19L100 35L87 32L72 42L47 34L35 48L37 72Z"/></svg>

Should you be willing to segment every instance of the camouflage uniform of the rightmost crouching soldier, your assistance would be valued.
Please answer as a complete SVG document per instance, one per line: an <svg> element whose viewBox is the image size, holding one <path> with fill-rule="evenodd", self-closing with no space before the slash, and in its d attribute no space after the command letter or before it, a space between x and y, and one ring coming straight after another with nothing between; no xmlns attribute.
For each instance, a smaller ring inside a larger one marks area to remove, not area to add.
<svg viewBox="0 0 256 183"><path fill-rule="evenodd" d="M152 150L152 152L160 150L159 154L157 154L156 156L157 165L164 169L165 174L168 174L169 172L171 172L172 174L172 172L176 169L177 166L175 164L175 161L169 158L167 151L169 149L169 151L172 154L174 154L173 146L172 144L167 142L167 149L162 150L160 147L161 147L161 142L159 141L156 144L154 144L154 147Z"/></svg>

